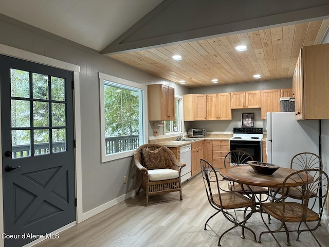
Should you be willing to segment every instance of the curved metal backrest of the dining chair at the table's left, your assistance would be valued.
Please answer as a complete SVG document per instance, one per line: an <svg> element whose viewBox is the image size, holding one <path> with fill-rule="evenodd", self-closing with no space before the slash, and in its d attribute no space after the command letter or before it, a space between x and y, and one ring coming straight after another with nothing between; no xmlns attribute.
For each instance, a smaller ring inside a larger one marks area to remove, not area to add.
<svg viewBox="0 0 329 247"><path fill-rule="evenodd" d="M204 180L204 184L206 187L207 198L210 204L214 203L214 196L220 197L220 189L218 184L218 177L215 169L212 165L209 164L208 161L204 160L203 158L200 159L200 166L202 171L202 177Z"/></svg>

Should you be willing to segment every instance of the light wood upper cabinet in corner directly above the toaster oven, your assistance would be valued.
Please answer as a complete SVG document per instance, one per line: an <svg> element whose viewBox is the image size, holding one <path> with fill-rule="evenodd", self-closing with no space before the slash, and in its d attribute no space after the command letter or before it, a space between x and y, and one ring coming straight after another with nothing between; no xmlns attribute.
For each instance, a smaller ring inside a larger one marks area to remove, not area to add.
<svg viewBox="0 0 329 247"><path fill-rule="evenodd" d="M185 94L183 102L184 121L207 119L207 98L205 94Z"/></svg>

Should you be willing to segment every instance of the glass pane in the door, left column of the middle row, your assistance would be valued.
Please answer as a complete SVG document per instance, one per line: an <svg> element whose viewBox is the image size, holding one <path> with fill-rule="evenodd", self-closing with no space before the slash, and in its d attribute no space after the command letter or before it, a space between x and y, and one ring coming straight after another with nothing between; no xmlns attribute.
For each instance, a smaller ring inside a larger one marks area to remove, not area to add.
<svg viewBox="0 0 329 247"><path fill-rule="evenodd" d="M11 100L11 127L30 127L30 101Z"/></svg>

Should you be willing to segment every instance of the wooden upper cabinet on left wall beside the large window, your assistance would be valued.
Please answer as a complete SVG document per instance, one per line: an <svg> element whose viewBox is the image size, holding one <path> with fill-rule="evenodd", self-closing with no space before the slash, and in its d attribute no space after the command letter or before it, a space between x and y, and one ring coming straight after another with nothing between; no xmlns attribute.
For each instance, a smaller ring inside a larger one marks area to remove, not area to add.
<svg viewBox="0 0 329 247"><path fill-rule="evenodd" d="M149 120L175 120L175 89L162 84L148 85Z"/></svg>

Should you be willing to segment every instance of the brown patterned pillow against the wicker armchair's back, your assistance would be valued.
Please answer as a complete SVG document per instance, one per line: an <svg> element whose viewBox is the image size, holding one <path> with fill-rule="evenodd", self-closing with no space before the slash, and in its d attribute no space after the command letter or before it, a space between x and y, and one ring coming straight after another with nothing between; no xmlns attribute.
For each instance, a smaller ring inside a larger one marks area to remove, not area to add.
<svg viewBox="0 0 329 247"><path fill-rule="evenodd" d="M166 168L165 156L163 155L163 152L162 147L154 151L147 148L142 149L144 167L148 170Z"/></svg>

